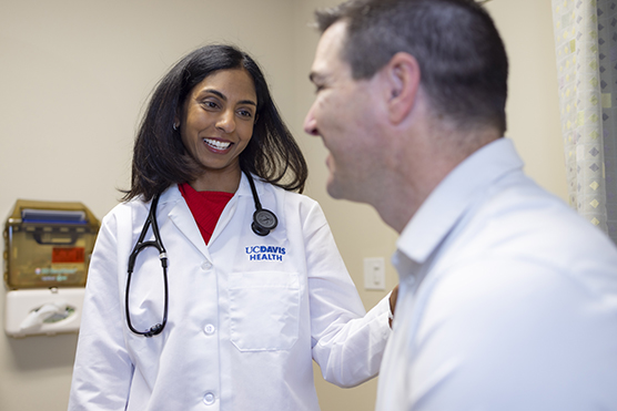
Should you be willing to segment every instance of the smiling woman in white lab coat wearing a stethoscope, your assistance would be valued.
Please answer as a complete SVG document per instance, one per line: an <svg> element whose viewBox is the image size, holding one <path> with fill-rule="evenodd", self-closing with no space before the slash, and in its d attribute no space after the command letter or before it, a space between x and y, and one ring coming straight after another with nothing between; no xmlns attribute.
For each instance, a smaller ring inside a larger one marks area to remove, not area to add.
<svg viewBox="0 0 617 411"><path fill-rule="evenodd" d="M183 58L98 236L69 410L318 410L313 359L374 377L390 301L365 314L306 174L249 55Z"/></svg>

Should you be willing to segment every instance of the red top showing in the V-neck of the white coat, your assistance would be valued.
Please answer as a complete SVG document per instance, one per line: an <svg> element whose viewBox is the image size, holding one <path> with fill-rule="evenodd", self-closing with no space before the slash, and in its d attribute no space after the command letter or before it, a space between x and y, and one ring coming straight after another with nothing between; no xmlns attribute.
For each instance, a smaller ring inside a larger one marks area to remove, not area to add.
<svg viewBox="0 0 617 411"><path fill-rule="evenodd" d="M189 205L205 244L210 242L216 222L233 197L233 193L196 192L188 183L179 184L180 193Z"/></svg>

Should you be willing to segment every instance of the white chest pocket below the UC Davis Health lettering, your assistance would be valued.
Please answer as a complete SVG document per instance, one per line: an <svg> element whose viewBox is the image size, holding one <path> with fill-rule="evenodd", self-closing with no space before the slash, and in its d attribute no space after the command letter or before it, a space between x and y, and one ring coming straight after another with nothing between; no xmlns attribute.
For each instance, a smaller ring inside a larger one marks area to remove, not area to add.
<svg viewBox="0 0 617 411"><path fill-rule="evenodd" d="M299 335L300 275L230 275L230 336L240 351L287 350Z"/></svg>

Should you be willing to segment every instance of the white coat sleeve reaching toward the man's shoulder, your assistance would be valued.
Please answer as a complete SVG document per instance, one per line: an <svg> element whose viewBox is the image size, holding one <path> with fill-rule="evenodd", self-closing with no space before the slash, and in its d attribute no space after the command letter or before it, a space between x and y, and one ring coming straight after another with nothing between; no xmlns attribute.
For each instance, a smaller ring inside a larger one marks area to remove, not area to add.
<svg viewBox="0 0 617 411"><path fill-rule="evenodd" d="M391 333L386 296L365 314L318 205L307 215L306 265L313 359L326 381L357 386L378 373Z"/></svg>

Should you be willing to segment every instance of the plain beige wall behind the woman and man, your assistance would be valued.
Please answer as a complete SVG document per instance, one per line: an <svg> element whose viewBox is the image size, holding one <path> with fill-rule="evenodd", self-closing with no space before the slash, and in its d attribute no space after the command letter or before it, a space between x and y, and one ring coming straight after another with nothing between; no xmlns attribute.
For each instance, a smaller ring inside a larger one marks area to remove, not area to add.
<svg viewBox="0 0 617 411"><path fill-rule="evenodd" d="M365 306L373 306L385 292L362 288L362 260L390 259L396 235L370 207L327 197L324 148L302 133L317 41L307 23L315 7L336 2L0 0L0 218L17 198L81 201L101 218L117 204L115 188L129 184L133 133L155 82L189 50L233 42L265 69L305 151L307 194L322 203ZM493 0L488 9L510 55L508 134L529 174L565 198L550 0ZM386 281L396 282L390 264ZM75 341L0 333L0 410L64 410ZM324 411L373 409L375 380L350 390L316 380Z"/></svg>

